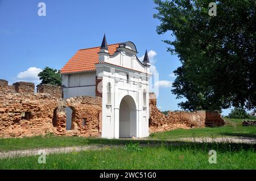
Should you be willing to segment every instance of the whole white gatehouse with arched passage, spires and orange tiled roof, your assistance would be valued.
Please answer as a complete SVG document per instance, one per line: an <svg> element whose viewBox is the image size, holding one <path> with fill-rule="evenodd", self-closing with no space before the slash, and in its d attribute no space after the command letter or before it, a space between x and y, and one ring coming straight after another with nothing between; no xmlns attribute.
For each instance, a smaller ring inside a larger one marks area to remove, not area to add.
<svg viewBox="0 0 256 181"><path fill-rule="evenodd" d="M100 47L78 50L61 69L64 99L81 95L102 98L102 121L95 132L104 138L149 134L148 80L152 74L147 50L143 61L137 54L133 42L108 45L104 35Z"/></svg>

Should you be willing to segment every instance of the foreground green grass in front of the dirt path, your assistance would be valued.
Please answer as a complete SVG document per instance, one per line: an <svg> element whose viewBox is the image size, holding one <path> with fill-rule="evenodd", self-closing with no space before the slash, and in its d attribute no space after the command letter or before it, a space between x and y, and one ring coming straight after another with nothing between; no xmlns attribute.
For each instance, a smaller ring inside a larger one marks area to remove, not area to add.
<svg viewBox="0 0 256 181"><path fill-rule="evenodd" d="M208 162L208 151L217 151L217 163ZM51 154L46 164L38 157L0 159L0 169L256 169L255 145L160 145Z"/></svg>

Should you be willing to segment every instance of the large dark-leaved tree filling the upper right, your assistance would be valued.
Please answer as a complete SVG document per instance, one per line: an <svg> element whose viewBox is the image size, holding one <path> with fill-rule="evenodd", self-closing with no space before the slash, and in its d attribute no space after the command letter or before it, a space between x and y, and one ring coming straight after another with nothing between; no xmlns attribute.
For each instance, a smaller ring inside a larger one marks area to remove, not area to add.
<svg viewBox="0 0 256 181"><path fill-rule="evenodd" d="M256 107L256 1L220 0L217 16L209 16L212 0L155 0L160 20L156 31L177 54L174 89L184 110Z"/></svg>

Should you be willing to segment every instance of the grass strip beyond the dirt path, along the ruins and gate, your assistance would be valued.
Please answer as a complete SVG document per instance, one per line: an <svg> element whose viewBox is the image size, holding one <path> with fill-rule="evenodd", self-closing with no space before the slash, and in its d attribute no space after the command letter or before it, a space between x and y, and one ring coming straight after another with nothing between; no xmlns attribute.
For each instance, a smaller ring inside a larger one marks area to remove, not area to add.
<svg viewBox="0 0 256 181"><path fill-rule="evenodd" d="M256 138L256 127L242 127L242 120L227 119L228 124L218 128L176 129L174 131L153 133L144 140L131 140L140 144L161 144L180 141L187 137L224 137L246 136ZM162 140L162 141L158 141ZM35 148L57 148L82 145L124 145L130 140L108 140L103 138L35 136L25 138L0 138L0 151L24 150Z"/></svg>

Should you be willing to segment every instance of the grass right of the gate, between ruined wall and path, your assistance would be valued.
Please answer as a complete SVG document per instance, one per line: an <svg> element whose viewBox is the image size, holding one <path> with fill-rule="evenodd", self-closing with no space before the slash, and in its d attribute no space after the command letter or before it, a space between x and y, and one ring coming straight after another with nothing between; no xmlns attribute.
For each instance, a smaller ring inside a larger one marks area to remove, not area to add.
<svg viewBox="0 0 256 181"><path fill-rule="evenodd" d="M176 129L174 131L152 133L151 138L159 140L179 140L187 137L252 137L256 138L256 127L242 127L242 120L225 119L228 124L215 128Z"/></svg>

